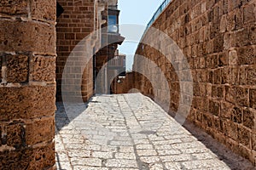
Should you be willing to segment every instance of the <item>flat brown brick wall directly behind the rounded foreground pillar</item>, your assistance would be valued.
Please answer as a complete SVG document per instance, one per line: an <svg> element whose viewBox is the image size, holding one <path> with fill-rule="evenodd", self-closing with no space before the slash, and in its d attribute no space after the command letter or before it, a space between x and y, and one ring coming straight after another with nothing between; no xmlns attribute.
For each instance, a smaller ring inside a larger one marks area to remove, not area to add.
<svg viewBox="0 0 256 170"><path fill-rule="evenodd" d="M68 56L81 40L97 29L97 23L100 19L96 16L101 15L101 11L98 10L95 0L59 0L58 3L64 8L64 13L57 19L56 25L58 54L56 62L57 100L61 101L61 79ZM96 41L97 37L93 37L93 39ZM93 94L93 48L94 46L91 44L90 47L84 45L80 51L74 49L73 55L77 55L77 57L70 58L73 64L69 64L67 68L69 77L65 80L68 82L65 82L64 89L70 101L76 101L81 96L84 101L87 101ZM84 56L84 51L91 56ZM86 59L82 59L83 57L90 58L90 60L87 62ZM83 71L81 70L82 65L85 65ZM82 77L82 80L80 77Z"/></svg>

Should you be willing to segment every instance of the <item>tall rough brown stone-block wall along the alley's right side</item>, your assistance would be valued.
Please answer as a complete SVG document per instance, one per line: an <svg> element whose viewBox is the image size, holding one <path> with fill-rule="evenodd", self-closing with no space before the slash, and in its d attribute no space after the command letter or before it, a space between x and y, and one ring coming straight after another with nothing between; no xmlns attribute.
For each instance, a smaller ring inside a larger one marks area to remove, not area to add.
<svg viewBox="0 0 256 170"><path fill-rule="evenodd" d="M154 22L183 51L193 77L193 96L180 98L179 82L188 81L188 74L180 80L183 61L173 63L157 49L140 44L137 54L154 61L166 75L171 95L171 111L179 102L191 100L188 120L195 122L256 164L256 9L255 0L173 0ZM148 35L150 37L151 35ZM147 34L146 36L147 37ZM156 38L157 39L157 38ZM160 48L172 48L172 41L156 42ZM173 64L172 63L172 64ZM154 68L135 59L140 67L158 80ZM176 71L175 71L176 70ZM183 71L185 73L185 71ZM135 86L149 94L148 82L135 76ZM188 87L189 88L189 87ZM190 87L191 88L191 87ZM157 89L165 95L163 88ZM164 97L163 97L164 98Z"/></svg>

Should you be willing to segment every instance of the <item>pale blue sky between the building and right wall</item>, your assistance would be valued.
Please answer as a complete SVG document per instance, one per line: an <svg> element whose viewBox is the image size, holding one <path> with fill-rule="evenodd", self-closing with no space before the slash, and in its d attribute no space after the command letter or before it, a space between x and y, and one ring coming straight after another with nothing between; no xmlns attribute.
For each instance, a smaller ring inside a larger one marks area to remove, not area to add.
<svg viewBox="0 0 256 170"><path fill-rule="evenodd" d="M137 41L131 41L129 40L130 38L126 38L125 42L119 46L119 52L126 54L126 70L131 70L133 55L137 48L137 42L143 34L144 26L147 26L148 21L162 2L163 0L119 0L119 25L120 27L129 27L128 29L120 29L120 34L125 37L125 35L131 33L127 32L127 30L130 30L136 31L135 35L137 35ZM135 27L141 29L134 27L134 30L132 30L131 27L133 25L139 25Z"/></svg>

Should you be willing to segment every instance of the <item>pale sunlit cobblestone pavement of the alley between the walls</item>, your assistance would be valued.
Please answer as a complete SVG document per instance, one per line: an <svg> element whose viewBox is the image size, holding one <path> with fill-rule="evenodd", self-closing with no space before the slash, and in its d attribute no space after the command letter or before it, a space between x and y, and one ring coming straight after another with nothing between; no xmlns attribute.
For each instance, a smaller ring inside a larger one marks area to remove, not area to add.
<svg viewBox="0 0 256 170"><path fill-rule="evenodd" d="M57 106L57 169L253 169L206 133L195 138L142 94Z"/></svg>

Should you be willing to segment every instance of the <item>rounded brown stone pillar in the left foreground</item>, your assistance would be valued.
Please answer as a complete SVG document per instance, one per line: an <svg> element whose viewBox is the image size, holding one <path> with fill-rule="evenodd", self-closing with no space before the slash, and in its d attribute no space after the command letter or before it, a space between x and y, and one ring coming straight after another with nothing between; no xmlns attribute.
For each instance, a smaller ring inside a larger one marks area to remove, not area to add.
<svg viewBox="0 0 256 170"><path fill-rule="evenodd" d="M0 3L1 169L55 166L55 3Z"/></svg>

